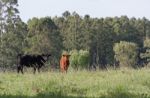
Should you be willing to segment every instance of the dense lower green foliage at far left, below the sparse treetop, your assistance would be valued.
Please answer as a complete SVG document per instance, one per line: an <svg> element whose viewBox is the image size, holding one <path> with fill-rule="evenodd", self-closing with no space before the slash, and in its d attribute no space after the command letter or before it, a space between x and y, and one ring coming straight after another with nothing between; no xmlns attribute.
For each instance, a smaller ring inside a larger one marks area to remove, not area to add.
<svg viewBox="0 0 150 98"><path fill-rule="evenodd" d="M12 66L17 64L17 55L23 53L26 35L27 25L21 21L16 23L15 28L3 34L0 65Z"/></svg>

